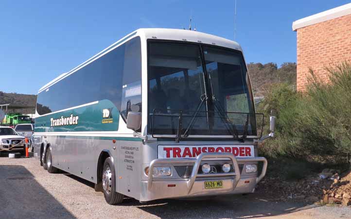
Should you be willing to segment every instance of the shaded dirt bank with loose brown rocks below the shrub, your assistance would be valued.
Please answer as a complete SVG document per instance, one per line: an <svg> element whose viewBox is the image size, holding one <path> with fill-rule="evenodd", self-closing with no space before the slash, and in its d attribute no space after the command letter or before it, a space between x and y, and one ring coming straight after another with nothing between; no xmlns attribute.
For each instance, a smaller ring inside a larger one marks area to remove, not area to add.
<svg viewBox="0 0 351 219"><path fill-rule="evenodd" d="M278 176L277 176L278 175ZM283 174L281 174L283 175ZM256 192L270 201L351 205L351 172L323 169L302 179L286 180L279 174L263 178Z"/></svg>

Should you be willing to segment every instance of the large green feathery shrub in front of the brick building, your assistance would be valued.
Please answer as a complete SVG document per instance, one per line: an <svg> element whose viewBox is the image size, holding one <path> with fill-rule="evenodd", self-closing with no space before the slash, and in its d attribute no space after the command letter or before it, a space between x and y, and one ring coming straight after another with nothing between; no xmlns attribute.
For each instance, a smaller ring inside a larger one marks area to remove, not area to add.
<svg viewBox="0 0 351 219"><path fill-rule="evenodd" d="M303 94L289 84L272 86L258 112L277 110L277 137L264 142L261 152L299 158L351 153L351 64L327 70L328 82L311 70Z"/></svg>

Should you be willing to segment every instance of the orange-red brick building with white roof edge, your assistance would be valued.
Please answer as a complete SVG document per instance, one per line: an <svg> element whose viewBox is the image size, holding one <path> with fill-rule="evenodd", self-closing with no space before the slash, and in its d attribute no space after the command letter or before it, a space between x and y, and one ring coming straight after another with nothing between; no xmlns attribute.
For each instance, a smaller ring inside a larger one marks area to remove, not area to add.
<svg viewBox="0 0 351 219"><path fill-rule="evenodd" d="M297 32L297 88L307 86L309 68L327 80L325 67L351 60L351 3L293 22Z"/></svg>

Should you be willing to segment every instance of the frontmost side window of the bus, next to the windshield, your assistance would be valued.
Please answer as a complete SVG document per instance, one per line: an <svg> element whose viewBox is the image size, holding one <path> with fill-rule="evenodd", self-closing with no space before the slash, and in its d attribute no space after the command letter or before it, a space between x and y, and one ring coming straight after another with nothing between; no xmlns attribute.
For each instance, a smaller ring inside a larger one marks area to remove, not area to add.
<svg viewBox="0 0 351 219"><path fill-rule="evenodd" d="M126 122L128 112L133 110L141 113L141 47L139 37L125 43L122 82L121 116Z"/></svg>

